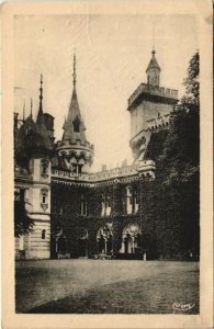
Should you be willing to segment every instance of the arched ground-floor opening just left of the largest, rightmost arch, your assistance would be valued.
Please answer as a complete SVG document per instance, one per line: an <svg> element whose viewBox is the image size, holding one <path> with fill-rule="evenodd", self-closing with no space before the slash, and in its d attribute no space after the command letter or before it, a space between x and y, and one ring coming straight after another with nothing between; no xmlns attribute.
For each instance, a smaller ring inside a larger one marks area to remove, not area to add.
<svg viewBox="0 0 214 329"><path fill-rule="evenodd" d="M112 224L105 224L97 234L98 252L111 253L112 252Z"/></svg>

